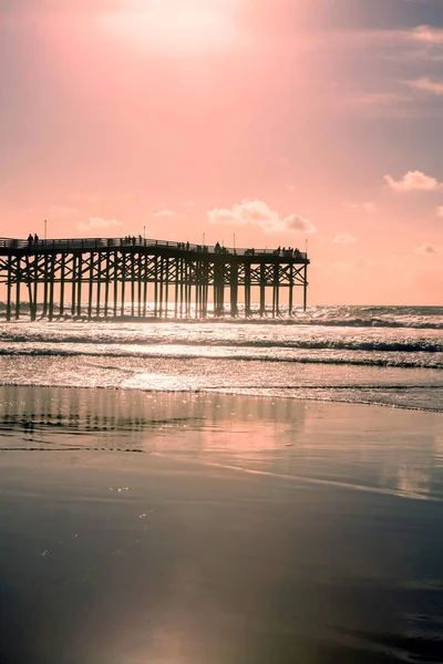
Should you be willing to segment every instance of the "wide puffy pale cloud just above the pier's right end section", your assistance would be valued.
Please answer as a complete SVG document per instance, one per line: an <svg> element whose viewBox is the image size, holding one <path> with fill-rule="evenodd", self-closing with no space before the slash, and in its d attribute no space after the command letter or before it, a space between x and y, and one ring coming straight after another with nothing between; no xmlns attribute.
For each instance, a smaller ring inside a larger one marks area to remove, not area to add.
<svg viewBox="0 0 443 664"><path fill-rule="evenodd" d="M305 235L317 232L309 219L299 215L281 217L262 200L243 200L231 208L215 208L207 212L210 224L258 226L265 232L296 231Z"/></svg>

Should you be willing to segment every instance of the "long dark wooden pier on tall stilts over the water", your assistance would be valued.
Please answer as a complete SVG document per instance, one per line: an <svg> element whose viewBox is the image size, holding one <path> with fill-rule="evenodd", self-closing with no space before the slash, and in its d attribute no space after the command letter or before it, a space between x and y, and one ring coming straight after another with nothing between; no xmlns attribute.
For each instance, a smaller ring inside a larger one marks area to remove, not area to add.
<svg viewBox="0 0 443 664"><path fill-rule="evenodd" d="M17 240L0 238L0 283L7 320L38 314L73 318L197 318L239 314L254 305L262 317L271 291L271 315L295 289L306 309L306 253L292 249L234 249L131 238ZM255 301L254 301L255 297ZM24 307L24 302L28 302Z"/></svg>

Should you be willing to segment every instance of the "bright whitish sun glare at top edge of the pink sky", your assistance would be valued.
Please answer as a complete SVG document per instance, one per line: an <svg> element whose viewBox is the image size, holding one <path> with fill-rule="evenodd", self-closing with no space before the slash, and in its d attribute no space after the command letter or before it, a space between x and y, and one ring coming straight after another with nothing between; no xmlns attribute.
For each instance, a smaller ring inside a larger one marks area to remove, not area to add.
<svg viewBox="0 0 443 664"><path fill-rule="evenodd" d="M240 0L144 0L122 2L105 14L106 29L135 45L207 49L235 43Z"/></svg>

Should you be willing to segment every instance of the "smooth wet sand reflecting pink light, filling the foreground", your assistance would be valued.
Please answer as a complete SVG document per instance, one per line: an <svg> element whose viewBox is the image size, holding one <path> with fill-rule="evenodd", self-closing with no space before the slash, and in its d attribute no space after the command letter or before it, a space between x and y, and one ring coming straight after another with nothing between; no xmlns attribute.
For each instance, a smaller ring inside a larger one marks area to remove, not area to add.
<svg viewBox="0 0 443 664"><path fill-rule="evenodd" d="M1 387L0 662L443 658L443 415Z"/></svg>

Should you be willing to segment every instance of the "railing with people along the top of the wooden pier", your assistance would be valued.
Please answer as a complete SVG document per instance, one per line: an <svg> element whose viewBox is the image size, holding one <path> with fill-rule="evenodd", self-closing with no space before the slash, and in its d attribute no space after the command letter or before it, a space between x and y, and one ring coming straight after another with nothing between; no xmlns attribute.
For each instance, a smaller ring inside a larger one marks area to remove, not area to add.
<svg viewBox="0 0 443 664"><path fill-rule="evenodd" d="M235 247L194 245L189 242L175 242L171 240L151 240L142 236L125 238L70 238L70 239L38 239L20 240L0 238L0 249L38 249L42 251L72 251L75 249L121 249L124 247L172 249L175 251L190 251L194 253L212 253L226 256L281 256L285 258L299 258L307 260L308 255L298 249L237 249Z"/></svg>

